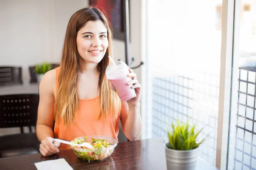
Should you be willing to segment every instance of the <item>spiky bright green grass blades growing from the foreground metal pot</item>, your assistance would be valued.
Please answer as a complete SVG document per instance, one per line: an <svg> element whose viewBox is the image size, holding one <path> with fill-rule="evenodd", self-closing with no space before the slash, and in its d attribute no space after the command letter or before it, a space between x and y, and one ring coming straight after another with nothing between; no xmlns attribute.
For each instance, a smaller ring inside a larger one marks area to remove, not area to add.
<svg viewBox="0 0 256 170"><path fill-rule="evenodd" d="M198 135L202 131L195 132L195 125L191 128L189 127L189 120L186 124L181 124L180 121L177 119L177 124L167 126L167 136L169 139L169 149L173 150L192 150L197 148L204 140L207 138L205 137L201 142L198 142Z"/></svg>

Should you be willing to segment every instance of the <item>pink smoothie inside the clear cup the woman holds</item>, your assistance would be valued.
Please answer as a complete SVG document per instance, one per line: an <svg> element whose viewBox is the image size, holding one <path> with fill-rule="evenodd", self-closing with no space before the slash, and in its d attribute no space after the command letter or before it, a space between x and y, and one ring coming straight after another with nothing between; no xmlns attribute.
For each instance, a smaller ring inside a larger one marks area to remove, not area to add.
<svg viewBox="0 0 256 170"><path fill-rule="evenodd" d="M130 80L131 77L127 77L126 79L109 79L111 84L116 88L117 94L122 102L136 97L134 88L131 88L133 85L127 85Z"/></svg>

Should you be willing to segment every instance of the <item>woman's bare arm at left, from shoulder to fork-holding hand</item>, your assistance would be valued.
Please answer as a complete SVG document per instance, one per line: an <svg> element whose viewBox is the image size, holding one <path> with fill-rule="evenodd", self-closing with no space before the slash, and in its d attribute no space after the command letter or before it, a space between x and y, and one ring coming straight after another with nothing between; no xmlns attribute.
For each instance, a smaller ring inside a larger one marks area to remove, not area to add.
<svg viewBox="0 0 256 170"><path fill-rule="evenodd" d="M55 69L48 71L41 80L39 87L38 119L36 125L36 135L40 144L40 152L43 156L58 153L59 143L54 145L54 134L52 131L54 121L54 88Z"/></svg>

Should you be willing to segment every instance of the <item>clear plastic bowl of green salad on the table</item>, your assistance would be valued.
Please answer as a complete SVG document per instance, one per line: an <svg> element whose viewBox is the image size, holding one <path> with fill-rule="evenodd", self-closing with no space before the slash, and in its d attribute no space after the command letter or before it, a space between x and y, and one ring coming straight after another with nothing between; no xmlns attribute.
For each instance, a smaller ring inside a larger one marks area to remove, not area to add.
<svg viewBox="0 0 256 170"><path fill-rule="evenodd" d="M81 136L71 142L76 144L90 142L93 145L93 149L70 145L76 156L87 161L100 161L107 158L117 145L116 139L108 136Z"/></svg>

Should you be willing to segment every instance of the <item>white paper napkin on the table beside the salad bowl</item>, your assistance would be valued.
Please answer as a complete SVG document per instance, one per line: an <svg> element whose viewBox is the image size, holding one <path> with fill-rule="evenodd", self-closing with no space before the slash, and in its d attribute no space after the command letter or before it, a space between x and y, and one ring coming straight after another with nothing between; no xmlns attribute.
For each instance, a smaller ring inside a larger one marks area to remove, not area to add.
<svg viewBox="0 0 256 170"><path fill-rule="evenodd" d="M38 170L73 170L64 158L35 163Z"/></svg>

